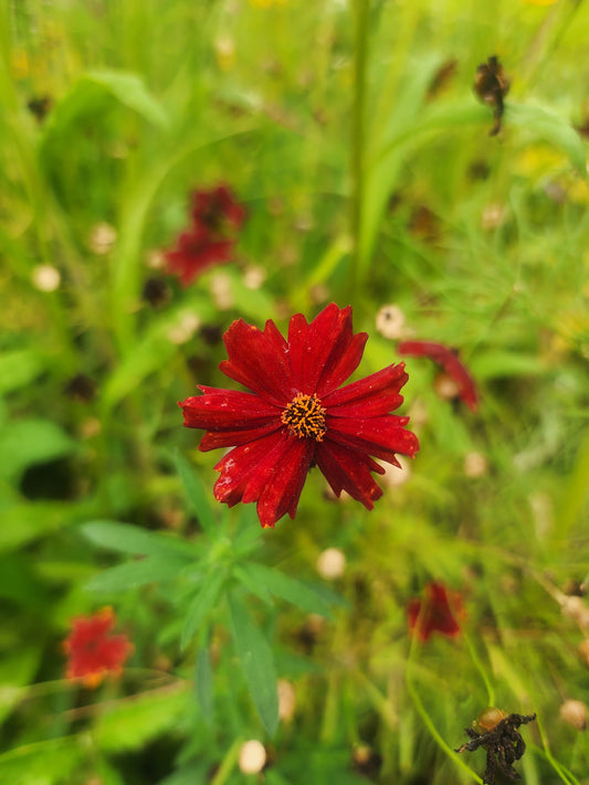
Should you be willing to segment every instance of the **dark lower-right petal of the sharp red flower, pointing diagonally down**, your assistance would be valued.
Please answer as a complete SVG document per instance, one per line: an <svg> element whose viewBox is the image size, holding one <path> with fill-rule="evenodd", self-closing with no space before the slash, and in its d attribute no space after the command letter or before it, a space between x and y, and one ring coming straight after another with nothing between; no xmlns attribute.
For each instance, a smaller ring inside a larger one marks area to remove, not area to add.
<svg viewBox="0 0 589 785"><path fill-rule="evenodd" d="M315 460L336 496L345 490L369 510L374 507L372 502L382 496L370 470L378 470L379 474L385 474L385 470L369 456L333 442L320 442L315 450Z"/></svg>

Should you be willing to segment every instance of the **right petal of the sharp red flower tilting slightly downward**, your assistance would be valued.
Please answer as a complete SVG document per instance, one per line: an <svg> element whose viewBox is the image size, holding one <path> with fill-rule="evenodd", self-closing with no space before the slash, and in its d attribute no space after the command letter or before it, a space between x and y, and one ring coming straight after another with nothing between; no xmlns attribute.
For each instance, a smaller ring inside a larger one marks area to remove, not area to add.
<svg viewBox="0 0 589 785"><path fill-rule="evenodd" d="M413 456L419 449L418 437L407 431L409 417L395 414L381 417L332 417L326 415L326 442L337 442L351 450L360 450L376 458L397 463L396 453Z"/></svg>

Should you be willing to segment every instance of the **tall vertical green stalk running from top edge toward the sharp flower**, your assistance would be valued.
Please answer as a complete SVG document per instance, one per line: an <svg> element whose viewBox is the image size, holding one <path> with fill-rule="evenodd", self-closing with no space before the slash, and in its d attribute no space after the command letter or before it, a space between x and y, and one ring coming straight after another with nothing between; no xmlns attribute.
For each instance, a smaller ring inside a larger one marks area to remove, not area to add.
<svg viewBox="0 0 589 785"><path fill-rule="evenodd" d="M362 259L360 237L364 219L365 193L365 113L366 113L366 64L368 60L368 17L370 0L355 0L354 13L354 100L351 106L350 173L351 173L351 269L349 275L350 296L357 291Z"/></svg>

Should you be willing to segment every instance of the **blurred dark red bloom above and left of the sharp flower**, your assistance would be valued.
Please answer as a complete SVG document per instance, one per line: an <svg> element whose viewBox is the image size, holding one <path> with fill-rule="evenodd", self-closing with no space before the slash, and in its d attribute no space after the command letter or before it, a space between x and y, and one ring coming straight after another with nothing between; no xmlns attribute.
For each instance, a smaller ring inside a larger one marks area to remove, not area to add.
<svg viewBox="0 0 589 785"><path fill-rule="evenodd" d="M168 272L177 275L182 286L209 267L230 261L236 232L245 220L245 209L227 185L194 191L191 200L191 224L164 254Z"/></svg>

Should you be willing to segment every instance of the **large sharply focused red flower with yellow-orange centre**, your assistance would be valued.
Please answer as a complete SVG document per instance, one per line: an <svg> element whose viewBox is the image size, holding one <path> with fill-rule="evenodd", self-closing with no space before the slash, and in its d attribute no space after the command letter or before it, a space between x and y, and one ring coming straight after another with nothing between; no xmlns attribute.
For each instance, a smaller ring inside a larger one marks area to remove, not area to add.
<svg viewBox="0 0 589 785"><path fill-rule="evenodd" d="M353 333L351 308L328 305L311 325L297 314L288 339L273 321L264 331L241 319L223 336L220 368L251 392L199 386L179 405L185 425L207 431L201 450L233 447L215 466L214 496L230 507L256 501L263 527L294 518L308 469L317 465L334 492L346 490L372 509L382 496L370 456L399 466L396 453L419 448L409 417L389 414L402 396L403 363L339 385L356 370L368 336Z"/></svg>

